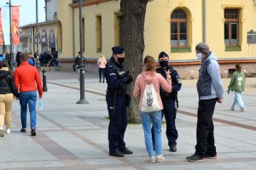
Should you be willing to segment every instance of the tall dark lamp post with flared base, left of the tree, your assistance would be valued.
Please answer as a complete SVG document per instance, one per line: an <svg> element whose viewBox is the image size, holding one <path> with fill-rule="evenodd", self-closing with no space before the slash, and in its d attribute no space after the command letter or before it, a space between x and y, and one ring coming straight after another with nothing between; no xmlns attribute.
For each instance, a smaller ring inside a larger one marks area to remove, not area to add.
<svg viewBox="0 0 256 170"><path fill-rule="evenodd" d="M82 27L82 0L79 0L79 37L80 37L80 57L81 59L84 59L83 57L83 42L82 42L82 32L83 32L83 27ZM88 101L85 100L84 97L84 65L82 68L79 68L80 71L80 99L77 101L77 104L89 104Z"/></svg>

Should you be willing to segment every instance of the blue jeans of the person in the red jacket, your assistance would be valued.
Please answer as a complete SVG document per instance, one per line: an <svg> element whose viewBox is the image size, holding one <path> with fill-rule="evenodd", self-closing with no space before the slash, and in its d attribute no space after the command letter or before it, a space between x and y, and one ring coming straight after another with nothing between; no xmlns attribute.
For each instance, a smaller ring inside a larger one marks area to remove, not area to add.
<svg viewBox="0 0 256 170"><path fill-rule="evenodd" d="M20 92L20 118L22 128L26 128L26 111L27 105L30 112L30 126L31 129L36 128L37 115L36 115L36 104L37 104L37 91Z"/></svg>

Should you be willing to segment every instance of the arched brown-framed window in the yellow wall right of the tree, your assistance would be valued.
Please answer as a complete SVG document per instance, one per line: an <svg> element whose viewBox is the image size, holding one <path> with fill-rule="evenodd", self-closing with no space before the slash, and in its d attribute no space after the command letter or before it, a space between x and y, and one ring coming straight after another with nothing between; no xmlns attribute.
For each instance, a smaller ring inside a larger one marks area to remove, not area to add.
<svg viewBox="0 0 256 170"><path fill-rule="evenodd" d="M171 15L171 46L172 48L188 47L187 14L176 9Z"/></svg>

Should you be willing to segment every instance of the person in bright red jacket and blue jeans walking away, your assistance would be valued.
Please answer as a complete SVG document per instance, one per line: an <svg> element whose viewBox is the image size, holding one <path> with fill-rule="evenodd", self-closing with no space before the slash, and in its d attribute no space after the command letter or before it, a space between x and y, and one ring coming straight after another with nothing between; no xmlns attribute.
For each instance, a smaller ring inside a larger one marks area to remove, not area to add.
<svg viewBox="0 0 256 170"><path fill-rule="evenodd" d="M20 91L20 118L22 128L21 133L26 133L26 111L27 105L30 111L31 135L36 136L36 104L37 89L38 98L43 97L43 87L41 77L36 67L29 65L29 54L21 55L21 65L15 69L15 86Z"/></svg>

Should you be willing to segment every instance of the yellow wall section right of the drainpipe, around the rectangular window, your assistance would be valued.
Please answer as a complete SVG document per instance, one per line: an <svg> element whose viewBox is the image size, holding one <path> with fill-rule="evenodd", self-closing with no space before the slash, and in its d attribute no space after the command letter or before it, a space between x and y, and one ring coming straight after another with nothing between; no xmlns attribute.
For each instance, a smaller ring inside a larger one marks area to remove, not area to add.
<svg viewBox="0 0 256 170"><path fill-rule="evenodd" d="M241 8L241 51L225 51L224 8L228 7ZM207 1L207 43L218 58L256 57L256 45L247 44L247 31L256 31L255 16L256 6L250 0Z"/></svg>

